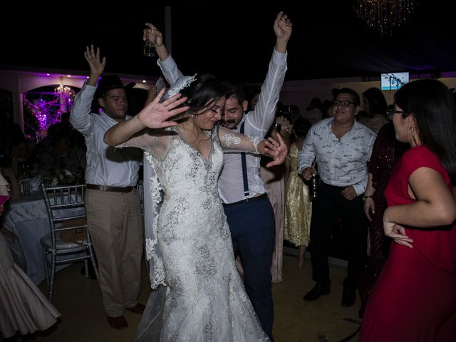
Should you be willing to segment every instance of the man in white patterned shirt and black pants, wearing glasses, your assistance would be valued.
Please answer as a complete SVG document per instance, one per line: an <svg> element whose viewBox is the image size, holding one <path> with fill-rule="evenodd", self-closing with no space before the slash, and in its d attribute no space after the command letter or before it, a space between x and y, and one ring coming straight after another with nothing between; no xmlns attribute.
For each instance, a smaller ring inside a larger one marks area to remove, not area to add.
<svg viewBox="0 0 456 342"><path fill-rule="evenodd" d="M299 152L299 173L309 180L316 172L311 167L316 160L321 177L311 219L312 277L316 285L304 296L304 301L315 301L330 292L328 249L331 227L342 217L348 240L348 276L343 282L341 304L352 306L366 263L368 224L363 210L363 193L375 133L355 120L360 110L360 99L355 90L339 90L333 108L333 118L313 125Z"/></svg>

